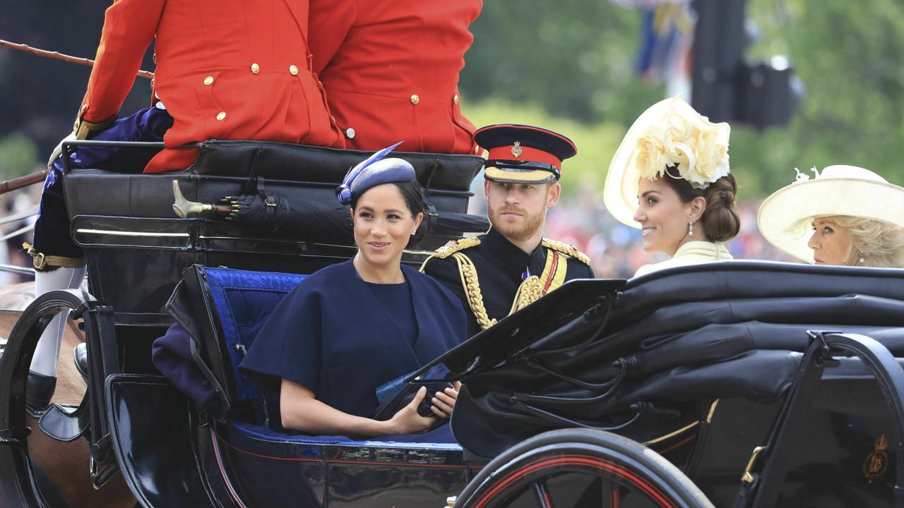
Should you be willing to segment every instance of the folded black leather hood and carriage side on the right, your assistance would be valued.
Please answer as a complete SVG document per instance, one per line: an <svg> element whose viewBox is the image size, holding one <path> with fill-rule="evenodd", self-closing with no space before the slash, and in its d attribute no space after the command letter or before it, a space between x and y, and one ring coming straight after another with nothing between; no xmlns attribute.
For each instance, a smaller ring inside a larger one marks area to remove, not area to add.
<svg viewBox="0 0 904 508"><path fill-rule="evenodd" d="M465 380L453 429L477 456L600 428L645 443L730 506L807 330L867 334L904 357L904 271L730 262L575 281L436 362ZM901 422L890 400L857 358L822 380L778 505L894 505Z"/></svg>

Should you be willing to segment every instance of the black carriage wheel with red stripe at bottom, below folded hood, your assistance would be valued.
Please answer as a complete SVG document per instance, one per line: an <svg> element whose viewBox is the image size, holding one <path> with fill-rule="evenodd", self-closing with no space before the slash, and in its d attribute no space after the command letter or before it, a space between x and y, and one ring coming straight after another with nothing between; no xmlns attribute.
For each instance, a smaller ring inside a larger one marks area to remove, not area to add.
<svg viewBox="0 0 904 508"><path fill-rule="evenodd" d="M608 432L566 428L525 439L494 458L456 508L710 507L672 463Z"/></svg>

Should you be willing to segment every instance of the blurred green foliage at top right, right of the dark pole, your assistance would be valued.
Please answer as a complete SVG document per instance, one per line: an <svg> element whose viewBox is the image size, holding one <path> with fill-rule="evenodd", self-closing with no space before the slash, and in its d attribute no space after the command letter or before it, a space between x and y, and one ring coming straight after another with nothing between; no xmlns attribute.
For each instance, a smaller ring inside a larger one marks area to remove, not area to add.
<svg viewBox="0 0 904 508"><path fill-rule="evenodd" d="M732 160L760 175L757 193L793 167L862 165L904 184L904 3L750 0L762 37L749 54L787 54L806 98L786 128L736 129Z"/></svg>

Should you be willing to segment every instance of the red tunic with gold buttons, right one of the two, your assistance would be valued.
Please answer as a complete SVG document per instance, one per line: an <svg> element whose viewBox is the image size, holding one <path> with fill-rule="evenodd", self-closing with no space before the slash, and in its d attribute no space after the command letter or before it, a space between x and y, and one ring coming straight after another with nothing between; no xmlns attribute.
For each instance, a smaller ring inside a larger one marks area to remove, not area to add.
<svg viewBox="0 0 904 508"><path fill-rule="evenodd" d="M314 70L345 146L473 154L458 72L482 0L310 0ZM352 129L352 130L349 130Z"/></svg>

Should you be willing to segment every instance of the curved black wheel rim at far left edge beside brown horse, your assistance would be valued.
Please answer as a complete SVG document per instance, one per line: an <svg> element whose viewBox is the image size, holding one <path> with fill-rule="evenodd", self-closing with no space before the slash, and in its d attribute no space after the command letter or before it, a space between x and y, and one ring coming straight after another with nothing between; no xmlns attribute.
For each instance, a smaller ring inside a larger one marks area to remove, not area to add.
<svg viewBox="0 0 904 508"><path fill-rule="evenodd" d="M6 341L0 356L0 506L30 508L48 502L38 490L25 440L31 432L25 427L25 382L44 328L53 316L82 303L74 291L39 296L24 310Z"/></svg>

